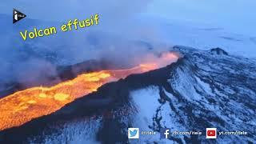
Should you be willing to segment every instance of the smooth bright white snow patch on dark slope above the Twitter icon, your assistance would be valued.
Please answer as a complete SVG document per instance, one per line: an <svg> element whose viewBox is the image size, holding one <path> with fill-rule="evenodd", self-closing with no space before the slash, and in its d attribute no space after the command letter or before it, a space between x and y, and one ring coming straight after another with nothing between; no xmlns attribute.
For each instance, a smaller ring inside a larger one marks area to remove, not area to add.
<svg viewBox="0 0 256 144"><path fill-rule="evenodd" d="M166 90L164 90L164 92L168 97L175 99L174 96L167 93ZM158 109L160 109L158 118L162 117L160 121L161 126L166 126L170 128L171 131L186 130L186 128L178 122L177 115L174 111L170 109L169 102L165 102L164 104L158 102L158 98L160 98L158 86L150 86L146 89L134 90L130 93L130 97L133 99L134 106L138 110L138 113L134 114L132 118L134 120L133 126L138 127L140 131L154 131L151 130L149 126L153 126L153 118L156 117L156 110ZM175 137L182 138L182 136ZM130 142L134 141L130 140ZM138 140L138 143L139 142L174 143L170 140L160 139L160 134L158 132L155 135L141 134Z"/></svg>

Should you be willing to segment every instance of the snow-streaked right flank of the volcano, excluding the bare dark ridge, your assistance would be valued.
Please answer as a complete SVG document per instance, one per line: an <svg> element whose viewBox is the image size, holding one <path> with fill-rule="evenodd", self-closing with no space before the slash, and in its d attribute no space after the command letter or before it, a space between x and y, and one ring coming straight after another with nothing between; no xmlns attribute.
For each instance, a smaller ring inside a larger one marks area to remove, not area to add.
<svg viewBox="0 0 256 144"><path fill-rule="evenodd" d="M135 127L202 131L199 137L172 135L172 142L256 142L255 62L226 55L221 49L175 48L183 51L185 58L172 71L166 84L131 93L138 108L138 114L134 114ZM248 134L218 135L210 141L206 139L208 127L215 127L218 132L244 130ZM143 140L159 142L159 137Z"/></svg>

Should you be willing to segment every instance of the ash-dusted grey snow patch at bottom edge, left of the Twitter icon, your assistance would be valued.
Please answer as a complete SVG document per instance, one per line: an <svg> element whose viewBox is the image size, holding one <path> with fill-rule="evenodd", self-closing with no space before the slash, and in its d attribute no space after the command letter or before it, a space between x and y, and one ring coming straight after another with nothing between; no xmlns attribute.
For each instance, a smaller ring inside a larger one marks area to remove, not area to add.
<svg viewBox="0 0 256 144"><path fill-rule="evenodd" d="M52 143L70 143L70 144L83 144L93 143L98 144L96 141L96 131L100 127L101 118L88 119L82 118L74 122L66 122L64 125L52 126L50 129L58 129L58 133L47 134L29 138L28 142L38 143L43 142L46 144Z"/></svg>

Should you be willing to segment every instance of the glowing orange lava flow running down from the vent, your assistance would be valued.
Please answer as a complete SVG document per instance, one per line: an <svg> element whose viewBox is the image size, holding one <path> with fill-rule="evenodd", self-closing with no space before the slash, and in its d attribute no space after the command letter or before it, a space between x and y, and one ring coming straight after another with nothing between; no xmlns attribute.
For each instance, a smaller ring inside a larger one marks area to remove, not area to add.
<svg viewBox="0 0 256 144"><path fill-rule="evenodd" d="M31 119L51 114L75 98L85 96L107 82L126 78L130 74L155 70L177 61L178 55L164 53L158 59L147 61L125 70L101 70L80 74L76 78L51 87L32 87L0 99L0 130L20 126Z"/></svg>

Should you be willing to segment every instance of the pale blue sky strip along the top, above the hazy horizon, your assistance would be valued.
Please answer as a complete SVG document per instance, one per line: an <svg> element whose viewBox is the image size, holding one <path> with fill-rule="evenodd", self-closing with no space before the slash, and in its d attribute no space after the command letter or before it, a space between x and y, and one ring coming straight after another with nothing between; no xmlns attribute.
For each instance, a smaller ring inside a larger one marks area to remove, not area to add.
<svg viewBox="0 0 256 144"><path fill-rule="evenodd" d="M13 8L17 8L29 18L51 21L84 18L86 14L95 13L104 14L105 21L146 14L182 22L206 23L256 36L255 7L255 0L5 0L1 2L0 14L10 14Z"/></svg>

